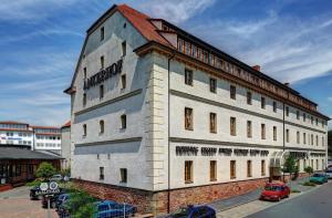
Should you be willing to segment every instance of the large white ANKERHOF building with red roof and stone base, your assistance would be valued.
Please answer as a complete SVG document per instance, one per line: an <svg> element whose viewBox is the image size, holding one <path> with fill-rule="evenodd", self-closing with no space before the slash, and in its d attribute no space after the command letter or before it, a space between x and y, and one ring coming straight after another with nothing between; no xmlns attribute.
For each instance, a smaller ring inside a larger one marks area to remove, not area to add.
<svg viewBox="0 0 332 218"><path fill-rule="evenodd" d="M322 170L329 117L297 91L162 19L113 6L89 30L71 86L72 177L165 212Z"/></svg>

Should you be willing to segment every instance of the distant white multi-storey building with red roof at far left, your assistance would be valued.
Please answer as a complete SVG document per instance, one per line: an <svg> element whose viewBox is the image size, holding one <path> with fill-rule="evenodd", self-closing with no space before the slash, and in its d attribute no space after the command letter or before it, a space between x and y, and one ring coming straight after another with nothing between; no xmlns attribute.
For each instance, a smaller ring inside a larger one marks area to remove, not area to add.
<svg viewBox="0 0 332 218"><path fill-rule="evenodd" d="M0 121L0 147L19 147L61 153L61 128Z"/></svg>

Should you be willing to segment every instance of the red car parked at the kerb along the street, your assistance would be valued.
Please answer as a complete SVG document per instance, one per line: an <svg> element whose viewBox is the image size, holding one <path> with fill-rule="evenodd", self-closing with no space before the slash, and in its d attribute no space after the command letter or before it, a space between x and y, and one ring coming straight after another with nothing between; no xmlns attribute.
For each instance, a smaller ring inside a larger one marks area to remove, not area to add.
<svg viewBox="0 0 332 218"><path fill-rule="evenodd" d="M277 200L288 198L290 188L284 184L267 184L260 195L261 200Z"/></svg>

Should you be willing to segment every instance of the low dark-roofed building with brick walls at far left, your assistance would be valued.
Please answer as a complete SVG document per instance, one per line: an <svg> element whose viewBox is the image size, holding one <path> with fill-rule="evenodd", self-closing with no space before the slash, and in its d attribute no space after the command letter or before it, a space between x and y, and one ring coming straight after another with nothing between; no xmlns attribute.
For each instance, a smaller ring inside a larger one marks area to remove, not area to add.
<svg viewBox="0 0 332 218"><path fill-rule="evenodd" d="M34 179L42 162L49 162L60 169L60 159L56 155L0 146L0 191Z"/></svg>

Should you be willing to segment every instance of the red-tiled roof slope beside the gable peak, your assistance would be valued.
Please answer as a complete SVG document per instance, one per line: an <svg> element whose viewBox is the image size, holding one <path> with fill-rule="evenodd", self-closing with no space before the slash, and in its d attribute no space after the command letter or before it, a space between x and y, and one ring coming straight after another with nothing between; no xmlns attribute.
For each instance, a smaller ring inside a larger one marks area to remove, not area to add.
<svg viewBox="0 0 332 218"><path fill-rule="evenodd" d="M156 41L167 46L172 46L172 44L157 32L157 28L149 21L151 18L148 15L132 9L127 4L120 4L116 9L146 38L147 41Z"/></svg>

